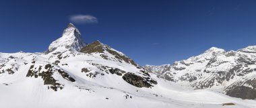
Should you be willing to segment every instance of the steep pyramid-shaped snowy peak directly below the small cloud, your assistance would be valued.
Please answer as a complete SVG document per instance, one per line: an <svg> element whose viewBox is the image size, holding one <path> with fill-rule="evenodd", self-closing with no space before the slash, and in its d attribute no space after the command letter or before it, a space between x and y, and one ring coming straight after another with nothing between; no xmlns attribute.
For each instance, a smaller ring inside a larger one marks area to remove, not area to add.
<svg viewBox="0 0 256 108"><path fill-rule="evenodd" d="M52 42L49 46L49 52L53 50L81 50L86 44L82 40L81 34L73 23L69 23L67 28L64 30L61 38Z"/></svg>

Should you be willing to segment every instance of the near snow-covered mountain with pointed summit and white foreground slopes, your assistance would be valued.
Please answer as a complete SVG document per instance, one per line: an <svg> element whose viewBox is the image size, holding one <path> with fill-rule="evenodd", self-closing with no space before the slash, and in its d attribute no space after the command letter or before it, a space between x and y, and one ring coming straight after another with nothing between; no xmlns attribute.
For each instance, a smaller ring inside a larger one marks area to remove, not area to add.
<svg viewBox="0 0 256 108"><path fill-rule="evenodd" d="M85 45L71 23L47 52L0 53L0 95L4 108L256 107L253 100L158 78L100 41Z"/></svg>

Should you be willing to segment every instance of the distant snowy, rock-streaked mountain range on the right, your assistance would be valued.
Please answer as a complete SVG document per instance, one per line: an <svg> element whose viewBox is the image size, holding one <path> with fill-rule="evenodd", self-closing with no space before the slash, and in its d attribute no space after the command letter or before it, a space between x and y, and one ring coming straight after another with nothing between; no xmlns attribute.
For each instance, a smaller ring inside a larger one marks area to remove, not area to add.
<svg viewBox="0 0 256 108"><path fill-rule="evenodd" d="M146 70L180 85L256 99L256 46L237 51L210 48L199 56Z"/></svg>

